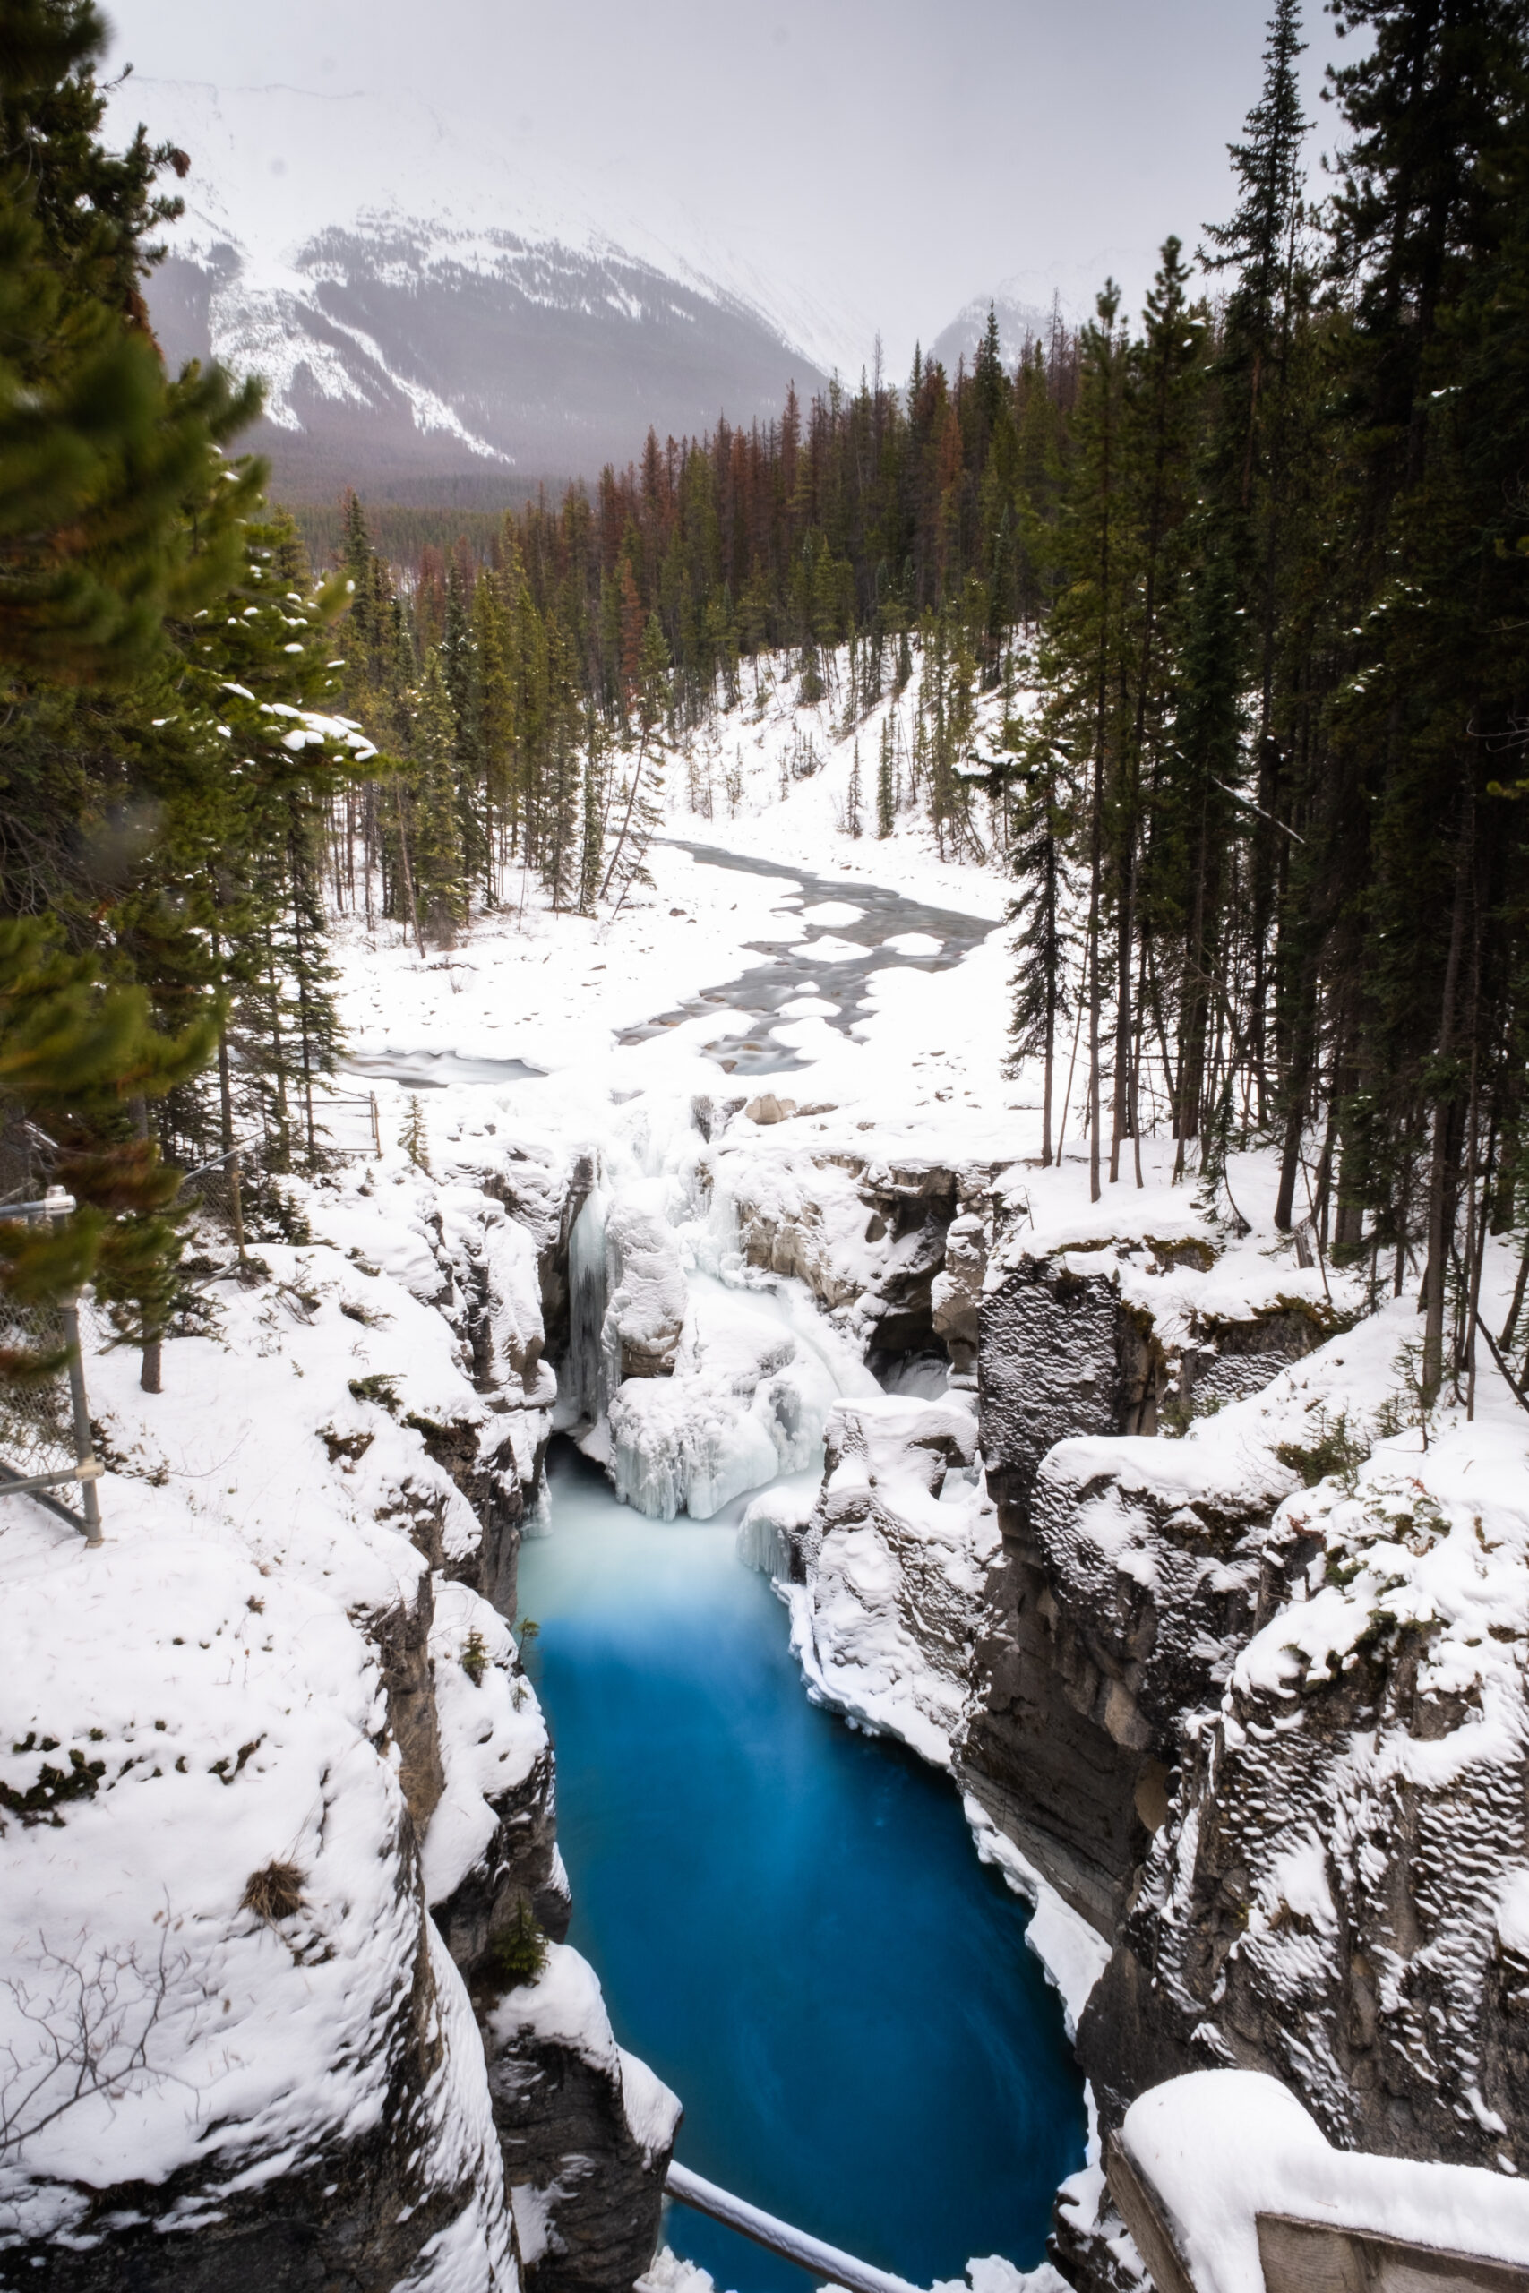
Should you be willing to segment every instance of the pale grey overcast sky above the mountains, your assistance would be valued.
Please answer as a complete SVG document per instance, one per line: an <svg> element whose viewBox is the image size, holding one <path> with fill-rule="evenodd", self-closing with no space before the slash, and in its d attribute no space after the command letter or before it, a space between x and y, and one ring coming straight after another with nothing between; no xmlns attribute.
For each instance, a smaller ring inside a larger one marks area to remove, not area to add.
<svg viewBox="0 0 1529 2293"><path fill-rule="evenodd" d="M763 275L880 328L901 371L1018 280L1132 303L1229 204L1268 0L108 0L156 78L410 94L523 158L679 204ZM1330 21L1309 0L1311 158ZM149 122L151 124L151 122ZM314 218L323 220L323 218Z"/></svg>

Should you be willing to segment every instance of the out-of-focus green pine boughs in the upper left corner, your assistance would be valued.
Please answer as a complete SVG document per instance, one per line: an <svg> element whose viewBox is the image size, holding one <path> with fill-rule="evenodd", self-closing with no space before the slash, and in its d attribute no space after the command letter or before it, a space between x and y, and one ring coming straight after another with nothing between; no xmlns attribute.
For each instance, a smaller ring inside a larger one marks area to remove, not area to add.
<svg viewBox="0 0 1529 2293"><path fill-rule="evenodd" d="M0 183L0 660L124 679L238 566L264 472L211 479L259 390L215 367L170 383L140 326L140 243L179 202L149 193L167 151L94 142L96 11L44 0L7 37L0 131L28 170Z"/></svg>

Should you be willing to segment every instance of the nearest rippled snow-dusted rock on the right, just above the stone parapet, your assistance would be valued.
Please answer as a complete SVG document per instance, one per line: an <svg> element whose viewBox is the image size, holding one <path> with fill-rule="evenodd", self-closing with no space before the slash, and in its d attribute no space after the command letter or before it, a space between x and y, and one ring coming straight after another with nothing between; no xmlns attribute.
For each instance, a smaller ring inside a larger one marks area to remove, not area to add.
<svg viewBox="0 0 1529 2293"><path fill-rule="evenodd" d="M1107 2116L1240 2064L1343 2146L1529 2165L1522 1513L1414 1463L1279 1513L1297 1598L1190 1720L1080 2034Z"/></svg>

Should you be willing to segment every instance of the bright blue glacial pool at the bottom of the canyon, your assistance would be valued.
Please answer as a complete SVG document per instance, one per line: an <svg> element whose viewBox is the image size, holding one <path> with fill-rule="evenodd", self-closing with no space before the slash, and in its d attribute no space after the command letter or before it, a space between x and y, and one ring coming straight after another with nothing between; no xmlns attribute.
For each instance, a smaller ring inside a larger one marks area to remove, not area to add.
<svg viewBox="0 0 1529 2293"><path fill-rule="evenodd" d="M1034 2268L1084 2105L1025 1905L944 1777L807 1701L740 1507L644 1520L557 1449L520 1610L569 1940L685 2103L676 2155L912 2284ZM722 2288L809 2284L683 2206L665 2236Z"/></svg>

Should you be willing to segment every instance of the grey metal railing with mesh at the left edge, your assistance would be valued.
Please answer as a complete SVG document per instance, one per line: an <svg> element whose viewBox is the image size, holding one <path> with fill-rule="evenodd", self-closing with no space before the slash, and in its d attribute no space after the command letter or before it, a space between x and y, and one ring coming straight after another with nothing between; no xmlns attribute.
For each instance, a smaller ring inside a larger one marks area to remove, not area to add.
<svg viewBox="0 0 1529 2293"><path fill-rule="evenodd" d="M0 1218L69 1218L73 1197L50 1188L41 1202L0 1204ZM89 1429L85 1360L80 1353L78 1296L48 1305L18 1305L0 1296L0 1348L11 1357L11 1376L0 1383L0 1497L37 1497L50 1513L78 1529L87 1545L101 1543L101 1463ZM57 1371L32 1371L28 1362L64 1357ZM80 1490L80 1511L55 1490Z"/></svg>

